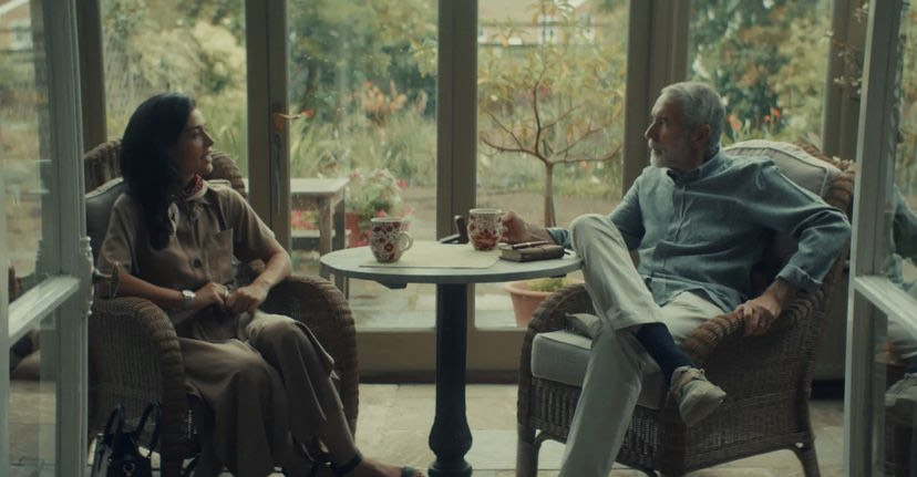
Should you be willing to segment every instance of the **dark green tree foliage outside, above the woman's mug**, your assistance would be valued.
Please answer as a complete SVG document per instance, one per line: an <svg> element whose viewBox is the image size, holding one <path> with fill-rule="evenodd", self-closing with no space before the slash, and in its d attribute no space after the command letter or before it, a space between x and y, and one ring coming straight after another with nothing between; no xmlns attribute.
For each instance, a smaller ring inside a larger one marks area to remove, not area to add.
<svg viewBox="0 0 917 477"><path fill-rule="evenodd" d="M434 9L432 0L291 0L291 107L341 121L365 81L435 98Z"/></svg>

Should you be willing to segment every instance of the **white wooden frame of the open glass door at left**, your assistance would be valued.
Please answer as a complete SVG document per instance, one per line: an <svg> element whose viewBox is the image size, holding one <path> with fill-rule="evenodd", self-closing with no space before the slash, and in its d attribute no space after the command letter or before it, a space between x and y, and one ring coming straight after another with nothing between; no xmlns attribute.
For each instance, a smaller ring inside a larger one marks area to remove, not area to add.
<svg viewBox="0 0 917 477"><path fill-rule="evenodd" d="M37 3L32 8L37 8ZM76 0L43 0L42 12L32 18L43 20L48 83L48 126L51 169L42 177L49 191L42 200L43 231L37 273L44 280L9 303L6 270L0 292L0 325L6 325L2 342L9 350L13 339L24 330L53 320L53 330L43 338L43 355L54 370L56 476L81 475L86 464L86 315L91 298L92 253L85 237L83 200L82 128L80 115L79 61L76 41ZM2 191L2 190L0 190ZM6 199L6 196L0 195ZM53 226L49 226L53 225ZM0 257L6 258L6 225L0 225ZM8 263L2 260L2 263ZM9 304L8 304L9 303ZM8 318L7 318L8 317ZM9 365L3 351L0 364ZM8 369L8 367L4 367ZM9 393L10 377L0 384L0 474L10 468Z"/></svg>

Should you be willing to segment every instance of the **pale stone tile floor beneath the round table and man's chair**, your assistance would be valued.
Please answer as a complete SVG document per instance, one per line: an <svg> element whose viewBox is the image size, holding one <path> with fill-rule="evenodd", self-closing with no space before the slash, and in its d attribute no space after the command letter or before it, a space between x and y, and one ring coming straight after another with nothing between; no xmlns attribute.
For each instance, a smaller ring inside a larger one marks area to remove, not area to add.
<svg viewBox="0 0 917 477"><path fill-rule="evenodd" d="M475 476L515 476L516 386L472 384L467 386L467 416L474 444L465 459ZM432 385L367 384L360 386L360 417L357 442L364 454L392 463L426 468L433 454L426 445L433 423ZM841 400L812 401L812 425L822 476L841 476L844 455ZM563 446L547 442L542 446L539 476L556 476ZM614 477L642 477L620 468ZM690 474L691 477L776 477L802 476L798 460L790 450L736 460L717 468Z"/></svg>

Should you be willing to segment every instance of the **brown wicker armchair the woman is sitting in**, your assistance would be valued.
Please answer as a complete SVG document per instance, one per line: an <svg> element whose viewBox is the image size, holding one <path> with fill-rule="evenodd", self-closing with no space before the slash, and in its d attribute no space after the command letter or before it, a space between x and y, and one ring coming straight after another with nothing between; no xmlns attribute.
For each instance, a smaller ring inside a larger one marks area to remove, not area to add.
<svg viewBox="0 0 917 477"><path fill-rule="evenodd" d="M86 190L95 189L87 197L104 193L105 187L100 186L111 187L110 180L120 177L120 141L111 141L85 154ZM245 195L233 160L223 153L214 153L213 157L214 172L207 179L228 179ZM93 247L101 238L92 237ZM295 276L275 287L261 308L306 323L333 356L344 414L351 431L356 431L357 343L353 317L343 294L320 277ZM89 365L90 436L104 427L116 403L124 404L136 419L147 403L158 400L163 407L162 475L179 475L183 459L195 454L196 443L178 339L165 312L140 298L95 300L89 319Z"/></svg>

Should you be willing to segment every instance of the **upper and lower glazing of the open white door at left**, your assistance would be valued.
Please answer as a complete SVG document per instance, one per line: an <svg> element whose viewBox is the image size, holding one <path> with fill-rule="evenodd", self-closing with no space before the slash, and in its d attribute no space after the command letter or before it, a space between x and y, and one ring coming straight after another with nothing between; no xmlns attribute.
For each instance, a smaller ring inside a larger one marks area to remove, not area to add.
<svg viewBox="0 0 917 477"><path fill-rule="evenodd" d="M42 177L53 167L48 123L48 70L44 54L37 54L44 48L44 29L41 11L32 11L29 2L19 3L0 13L0 91L3 94L0 167L7 194L2 200L7 230L0 240L6 241L10 258L11 301L47 278L48 268L38 266L38 261L42 235L53 232L53 227L45 227L47 220L42 219L53 204L48 200L49 183ZM33 13L37 15L34 23ZM17 437L9 440L10 467L0 469L0 474L51 475L56 460L53 360L42 369L40 355L33 352L42 334L41 328L49 332L45 336L53 335L54 321L44 320L41 325L20 325L22 330L11 336L14 341L10 343L10 393L3 398L8 400L9 433ZM8 333L6 329L0 332Z"/></svg>

